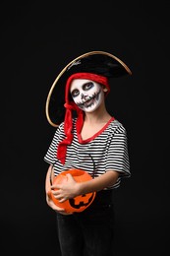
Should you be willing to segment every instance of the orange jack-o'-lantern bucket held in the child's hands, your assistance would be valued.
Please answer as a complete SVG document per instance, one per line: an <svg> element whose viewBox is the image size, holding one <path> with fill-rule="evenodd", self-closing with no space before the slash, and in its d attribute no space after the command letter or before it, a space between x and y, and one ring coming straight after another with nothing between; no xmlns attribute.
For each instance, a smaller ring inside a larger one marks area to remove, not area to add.
<svg viewBox="0 0 170 256"><path fill-rule="evenodd" d="M82 169L70 169L61 172L57 176L53 178L53 185L62 184L63 182L67 182L66 174L72 174L73 178L77 182L85 182L87 180L92 179L92 177ZM85 195L80 195L72 199L68 199L63 203L60 203L52 193L50 193L50 197L54 204L60 208L64 208L66 213L80 213L85 211L85 209L93 202L95 198L96 192L87 193Z"/></svg>

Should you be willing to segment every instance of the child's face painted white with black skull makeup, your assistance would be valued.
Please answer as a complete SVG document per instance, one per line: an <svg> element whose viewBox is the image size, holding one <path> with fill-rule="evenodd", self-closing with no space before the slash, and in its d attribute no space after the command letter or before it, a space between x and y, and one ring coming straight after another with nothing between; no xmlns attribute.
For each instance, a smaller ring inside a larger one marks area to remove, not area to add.
<svg viewBox="0 0 170 256"><path fill-rule="evenodd" d="M86 79L73 80L70 93L75 103L85 112L94 111L104 99L102 86Z"/></svg>

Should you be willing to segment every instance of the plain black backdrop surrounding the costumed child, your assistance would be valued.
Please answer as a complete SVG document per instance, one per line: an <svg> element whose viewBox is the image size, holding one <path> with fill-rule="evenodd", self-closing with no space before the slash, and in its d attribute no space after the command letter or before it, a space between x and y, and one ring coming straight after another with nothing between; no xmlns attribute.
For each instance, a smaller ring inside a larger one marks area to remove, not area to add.
<svg viewBox="0 0 170 256"><path fill-rule="evenodd" d="M45 101L65 65L91 50L118 56L133 72L108 96L128 131L132 172L116 193L115 255L167 254L168 1L1 1L0 12L1 254L59 255L44 194L43 157L55 131Z"/></svg>

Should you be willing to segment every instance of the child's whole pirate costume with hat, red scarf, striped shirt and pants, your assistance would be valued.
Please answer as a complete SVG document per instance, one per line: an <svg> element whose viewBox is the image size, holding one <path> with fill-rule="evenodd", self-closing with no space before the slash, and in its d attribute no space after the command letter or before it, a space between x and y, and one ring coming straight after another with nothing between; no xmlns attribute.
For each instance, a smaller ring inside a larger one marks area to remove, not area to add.
<svg viewBox="0 0 170 256"><path fill-rule="evenodd" d="M84 169L93 178L107 170L118 171L112 186L96 193L82 213L65 216L57 213L62 256L113 255L113 191L122 177L130 177L127 133L114 117L92 137L83 140L84 111L74 102L70 85L86 79L103 85L110 92L109 79L132 75L128 66L104 51L87 52L71 61L57 76L46 100L46 117L56 132L44 160L53 165L54 174L70 168ZM64 113L64 114L63 114Z"/></svg>

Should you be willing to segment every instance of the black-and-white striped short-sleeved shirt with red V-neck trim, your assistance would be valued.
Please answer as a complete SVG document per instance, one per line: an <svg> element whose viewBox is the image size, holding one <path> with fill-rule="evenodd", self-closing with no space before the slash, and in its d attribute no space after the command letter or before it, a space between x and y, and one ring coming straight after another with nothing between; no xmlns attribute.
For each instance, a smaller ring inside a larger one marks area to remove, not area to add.
<svg viewBox="0 0 170 256"><path fill-rule="evenodd" d="M65 164L57 159L57 147L65 139L63 122L58 126L44 160L53 165L55 175L78 168L87 171L94 178L108 170L116 170L120 173L117 182L105 189L119 187L122 177L131 176L125 127L111 118L99 132L82 140L77 133L76 120L73 120L74 138L72 144L67 146Z"/></svg>

